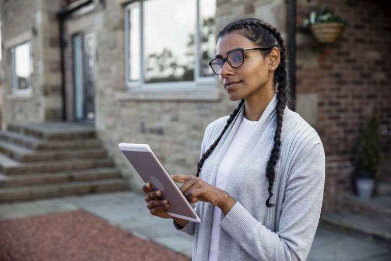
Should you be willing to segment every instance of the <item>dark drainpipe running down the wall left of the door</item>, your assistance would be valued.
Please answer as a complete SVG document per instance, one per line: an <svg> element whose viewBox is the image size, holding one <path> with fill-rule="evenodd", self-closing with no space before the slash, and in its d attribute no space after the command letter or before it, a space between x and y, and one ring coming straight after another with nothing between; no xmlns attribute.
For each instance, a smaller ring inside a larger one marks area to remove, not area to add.
<svg viewBox="0 0 391 261"><path fill-rule="evenodd" d="M64 33L64 21L68 15L70 15L75 10L87 6L92 3L92 0L79 0L76 1L57 12L57 18L59 20L59 40L60 40L60 60L61 60L61 93L62 93L62 101L63 101L63 112L62 112L62 120L66 121L66 106L65 106L65 65L64 65L64 48L67 45L67 42L63 38Z"/></svg>

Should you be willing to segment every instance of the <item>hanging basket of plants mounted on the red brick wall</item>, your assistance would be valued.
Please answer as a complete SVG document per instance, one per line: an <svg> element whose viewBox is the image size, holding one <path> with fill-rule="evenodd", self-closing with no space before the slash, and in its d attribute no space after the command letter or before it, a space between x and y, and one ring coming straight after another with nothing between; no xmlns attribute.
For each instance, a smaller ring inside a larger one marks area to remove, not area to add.
<svg viewBox="0 0 391 261"><path fill-rule="evenodd" d="M320 6L318 12L311 12L310 17L303 21L303 27L310 28L320 43L336 42L341 37L346 24L346 20L341 15L334 15L325 4Z"/></svg>

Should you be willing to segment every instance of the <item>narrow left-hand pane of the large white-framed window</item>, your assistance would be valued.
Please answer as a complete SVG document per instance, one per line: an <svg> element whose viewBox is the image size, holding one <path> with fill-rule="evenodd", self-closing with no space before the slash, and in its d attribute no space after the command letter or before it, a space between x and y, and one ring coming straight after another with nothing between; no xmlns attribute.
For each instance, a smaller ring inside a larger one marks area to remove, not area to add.
<svg viewBox="0 0 391 261"><path fill-rule="evenodd" d="M140 79L140 10L129 9L129 81Z"/></svg>

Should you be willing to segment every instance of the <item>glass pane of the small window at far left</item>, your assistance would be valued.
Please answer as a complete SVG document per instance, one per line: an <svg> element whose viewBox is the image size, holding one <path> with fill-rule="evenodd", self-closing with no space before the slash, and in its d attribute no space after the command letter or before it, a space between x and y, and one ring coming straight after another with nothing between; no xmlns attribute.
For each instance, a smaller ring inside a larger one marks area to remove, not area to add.
<svg viewBox="0 0 391 261"><path fill-rule="evenodd" d="M21 44L16 46L13 50L14 59L12 61L14 64L13 79L14 88L19 90L25 90L30 88L31 82L31 53L30 53L31 45L30 43Z"/></svg>

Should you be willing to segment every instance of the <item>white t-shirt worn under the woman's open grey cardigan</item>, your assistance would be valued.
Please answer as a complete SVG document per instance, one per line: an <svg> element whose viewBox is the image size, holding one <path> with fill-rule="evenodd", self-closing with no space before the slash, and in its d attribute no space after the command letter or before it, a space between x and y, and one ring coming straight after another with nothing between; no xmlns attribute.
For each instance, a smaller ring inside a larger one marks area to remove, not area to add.
<svg viewBox="0 0 391 261"><path fill-rule="evenodd" d="M250 121L243 117L240 125L233 137L230 145L224 157L221 160L220 165L217 169L216 181L214 186L221 190L224 190L227 184L228 173L234 164L234 161L239 154L239 152L247 144L248 139L254 131L255 126L258 121ZM220 235L220 223L221 219L221 210L219 207L213 207L213 217L212 217L212 228L210 234L210 245L209 245L209 261L217 260L218 258L218 239Z"/></svg>

